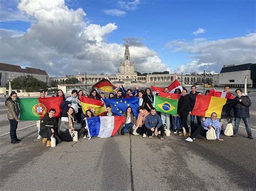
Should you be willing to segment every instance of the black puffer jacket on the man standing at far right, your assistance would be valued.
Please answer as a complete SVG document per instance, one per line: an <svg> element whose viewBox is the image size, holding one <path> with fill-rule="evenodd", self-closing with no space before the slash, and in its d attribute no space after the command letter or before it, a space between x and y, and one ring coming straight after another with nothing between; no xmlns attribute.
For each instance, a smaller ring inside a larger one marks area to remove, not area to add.
<svg viewBox="0 0 256 191"><path fill-rule="evenodd" d="M251 106L251 100L248 96L237 96L234 100L240 100L234 107L234 117L250 117L249 107Z"/></svg>

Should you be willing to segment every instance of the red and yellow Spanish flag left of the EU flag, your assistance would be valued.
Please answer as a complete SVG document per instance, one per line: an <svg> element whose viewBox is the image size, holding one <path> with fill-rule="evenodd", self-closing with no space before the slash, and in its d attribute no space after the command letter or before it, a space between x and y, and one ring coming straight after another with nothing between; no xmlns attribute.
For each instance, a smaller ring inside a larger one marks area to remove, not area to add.
<svg viewBox="0 0 256 191"><path fill-rule="evenodd" d="M104 103L101 100L95 100L92 98L81 96L80 103L82 104L84 114L85 111L88 109L91 110L93 112L93 115L95 116L102 116L106 112Z"/></svg>

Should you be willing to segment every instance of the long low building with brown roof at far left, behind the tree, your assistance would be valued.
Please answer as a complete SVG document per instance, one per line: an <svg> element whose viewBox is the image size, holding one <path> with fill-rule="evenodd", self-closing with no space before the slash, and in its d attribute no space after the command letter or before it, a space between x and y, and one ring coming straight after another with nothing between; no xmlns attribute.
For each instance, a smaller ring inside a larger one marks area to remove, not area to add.
<svg viewBox="0 0 256 191"><path fill-rule="evenodd" d="M4 87L8 80L13 80L16 77L26 75L31 75L43 82L49 82L49 76L45 70L29 67L23 69L21 66L9 65L8 63L0 63L0 87Z"/></svg>

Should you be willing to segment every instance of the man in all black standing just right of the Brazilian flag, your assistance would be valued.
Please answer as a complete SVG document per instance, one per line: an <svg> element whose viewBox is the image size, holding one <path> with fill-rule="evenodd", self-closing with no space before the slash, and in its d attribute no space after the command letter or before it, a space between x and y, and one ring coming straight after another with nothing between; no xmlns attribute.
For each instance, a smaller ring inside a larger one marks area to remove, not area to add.
<svg viewBox="0 0 256 191"><path fill-rule="evenodd" d="M190 112L190 97L187 95L186 88L183 88L181 92L180 100L178 101L177 115L180 116L181 123L184 126L185 130L187 131L185 137L190 136L190 129L188 128L188 125L187 125L187 116L189 112ZM179 130L179 136L184 136L184 133L182 132L181 129Z"/></svg>

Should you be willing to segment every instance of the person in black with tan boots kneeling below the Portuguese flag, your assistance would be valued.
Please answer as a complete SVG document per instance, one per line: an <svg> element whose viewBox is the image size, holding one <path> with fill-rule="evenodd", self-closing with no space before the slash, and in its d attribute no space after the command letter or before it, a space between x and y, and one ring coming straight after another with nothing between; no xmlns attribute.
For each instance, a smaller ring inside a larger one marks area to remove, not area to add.
<svg viewBox="0 0 256 191"><path fill-rule="evenodd" d="M55 109L50 109L49 113L46 114L40 122L40 131L39 135L43 137L43 143L46 143L46 146L51 146L51 136L56 139L57 143L60 143L61 140L57 136L58 124L56 119L53 117L56 113Z"/></svg>

